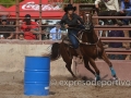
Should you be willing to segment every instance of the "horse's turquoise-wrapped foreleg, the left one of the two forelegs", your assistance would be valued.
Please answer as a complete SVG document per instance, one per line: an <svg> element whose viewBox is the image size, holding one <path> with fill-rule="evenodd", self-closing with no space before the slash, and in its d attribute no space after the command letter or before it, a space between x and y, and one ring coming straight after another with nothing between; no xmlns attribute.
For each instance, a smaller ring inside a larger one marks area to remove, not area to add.
<svg viewBox="0 0 131 98"><path fill-rule="evenodd" d="M95 72L96 72L96 74L95 74L96 81L100 81L99 70L96 66L95 60L92 58L88 58L88 60L90 60L91 65L94 68Z"/></svg>

